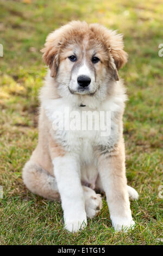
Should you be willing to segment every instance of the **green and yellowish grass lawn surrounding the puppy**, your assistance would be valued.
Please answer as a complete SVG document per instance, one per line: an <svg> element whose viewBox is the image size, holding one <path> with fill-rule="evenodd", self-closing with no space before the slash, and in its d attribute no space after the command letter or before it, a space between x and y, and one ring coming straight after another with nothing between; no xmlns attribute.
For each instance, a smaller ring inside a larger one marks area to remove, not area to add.
<svg viewBox="0 0 163 256"><path fill-rule="evenodd" d="M162 235L162 63L161 0L17 0L0 3L0 199L1 245L160 245ZM23 185L24 163L37 144L37 95L46 67L40 50L49 32L71 20L102 23L124 34L129 53L120 71L128 89L124 114L128 184L140 194L131 202L136 228L115 233L105 198L98 217L81 233L62 227L59 202Z"/></svg>

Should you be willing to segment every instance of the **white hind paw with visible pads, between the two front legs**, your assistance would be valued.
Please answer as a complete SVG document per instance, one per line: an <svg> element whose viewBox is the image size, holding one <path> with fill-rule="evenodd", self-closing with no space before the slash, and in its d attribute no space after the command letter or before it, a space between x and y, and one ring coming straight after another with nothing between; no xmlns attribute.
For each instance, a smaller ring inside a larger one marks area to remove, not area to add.
<svg viewBox="0 0 163 256"><path fill-rule="evenodd" d="M87 187L84 191L85 211L88 218L95 217L102 209L103 203L101 194L96 194L94 190Z"/></svg>

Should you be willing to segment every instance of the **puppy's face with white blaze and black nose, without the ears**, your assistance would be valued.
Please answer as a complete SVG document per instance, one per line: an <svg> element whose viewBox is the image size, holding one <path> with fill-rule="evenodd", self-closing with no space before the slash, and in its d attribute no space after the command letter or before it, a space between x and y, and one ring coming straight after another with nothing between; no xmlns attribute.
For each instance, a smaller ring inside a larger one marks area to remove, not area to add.
<svg viewBox="0 0 163 256"><path fill-rule="evenodd" d="M71 94L95 94L109 78L105 55L102 47L97 49L90 41L70 43L60 53L58 83L65 84Z"/></svg>

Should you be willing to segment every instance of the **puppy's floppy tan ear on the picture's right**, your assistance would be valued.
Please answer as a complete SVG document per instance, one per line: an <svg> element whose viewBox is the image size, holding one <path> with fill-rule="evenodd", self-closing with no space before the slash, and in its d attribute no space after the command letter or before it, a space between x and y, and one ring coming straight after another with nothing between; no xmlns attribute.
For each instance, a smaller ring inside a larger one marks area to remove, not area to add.
<svg viewBox="0 0 163 256"><path fill-rule="evenodd" d="M123 50L123 35L116 31L109 31L109 56L113 76L116 81L119 80L118 70L127 63L128 54Z"/></svg>

